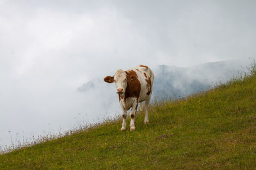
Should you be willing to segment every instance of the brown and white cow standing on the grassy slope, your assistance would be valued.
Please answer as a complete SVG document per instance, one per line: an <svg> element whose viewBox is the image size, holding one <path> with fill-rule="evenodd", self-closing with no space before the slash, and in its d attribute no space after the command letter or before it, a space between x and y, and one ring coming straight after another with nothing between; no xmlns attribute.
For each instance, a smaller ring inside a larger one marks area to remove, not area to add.
<svg viewBox="0 0 256 170"><path fill-rule="evenodd" d="M154 74L149 67L140 65L132 69L127 69L127 71L118 69L114 76L106 76L104 81L107 83L115 82L116 93L119 97L123 117L121 131L126 129L127 110L130 108L132 108L130 113L130 130L135 130L134 120L138 103L140 103L140 108L142 108L143 101L145 101L146 110L144 123L148 124L148 105L154 81Z"/></svg>

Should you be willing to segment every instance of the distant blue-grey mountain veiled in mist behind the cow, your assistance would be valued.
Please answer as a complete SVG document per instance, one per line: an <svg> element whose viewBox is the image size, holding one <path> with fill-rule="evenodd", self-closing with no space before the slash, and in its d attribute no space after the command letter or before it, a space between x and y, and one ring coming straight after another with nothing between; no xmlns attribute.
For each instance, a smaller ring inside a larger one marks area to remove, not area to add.
<svg viewBox="0 0 256 170"><path fill-rule="evenodd" d="M245 71L248 64L248 61L228 60L193 67L159 65L152 69L155 74L152 96L159 100L165 97L172 99L186 97L200 90L210 89L217 83L230 80L239 72ZM103 78L95 78L77 89L85 93L99 90L105 94L104 97L110 97L107 101L116 100L116 96L113 98L115 85L106 85Z"/></svg>

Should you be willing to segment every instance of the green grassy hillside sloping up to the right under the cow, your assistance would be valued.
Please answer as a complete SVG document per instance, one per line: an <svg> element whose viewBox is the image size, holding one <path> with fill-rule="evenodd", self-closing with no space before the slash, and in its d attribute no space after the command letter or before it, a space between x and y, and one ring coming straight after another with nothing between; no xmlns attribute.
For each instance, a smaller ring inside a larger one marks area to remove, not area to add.
<svg viewBox="0 0 256 170"><path fill-rule="evenodd" d="M121 120L0 155L0 169L256 169L256 74ZM129 121L127 122L127 125Z"/></svg>

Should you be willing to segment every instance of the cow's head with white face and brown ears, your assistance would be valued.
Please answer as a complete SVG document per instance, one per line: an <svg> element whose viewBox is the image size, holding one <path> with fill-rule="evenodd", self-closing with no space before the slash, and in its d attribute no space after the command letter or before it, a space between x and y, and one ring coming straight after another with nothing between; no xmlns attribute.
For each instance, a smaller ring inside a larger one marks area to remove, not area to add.
<svg viewBox="0 0 256 170"><path fill-rule="evenodd" d="M122 71L122 69L118 69L114 76L106 76L104 81L107 83L115 82L116 85L116 93L117 94L124 94L127 83L134 81L136 77L134 75L127 74L126 71Z"/></svg>

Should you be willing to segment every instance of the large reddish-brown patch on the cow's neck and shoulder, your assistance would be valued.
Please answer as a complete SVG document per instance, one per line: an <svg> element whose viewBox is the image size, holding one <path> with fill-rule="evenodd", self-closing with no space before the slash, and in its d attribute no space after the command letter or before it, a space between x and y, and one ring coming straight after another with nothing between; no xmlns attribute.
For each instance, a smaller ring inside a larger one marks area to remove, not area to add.
<svg viewBox="0 0 256 170"><path fill-rule="evenodd" d="M125 73L127 74L127 87L125 89L124 100L126 101L128 97L136 97L138 102L141 86L140 81L138 80L138 76L133 70L125 71Z"/></svg>

